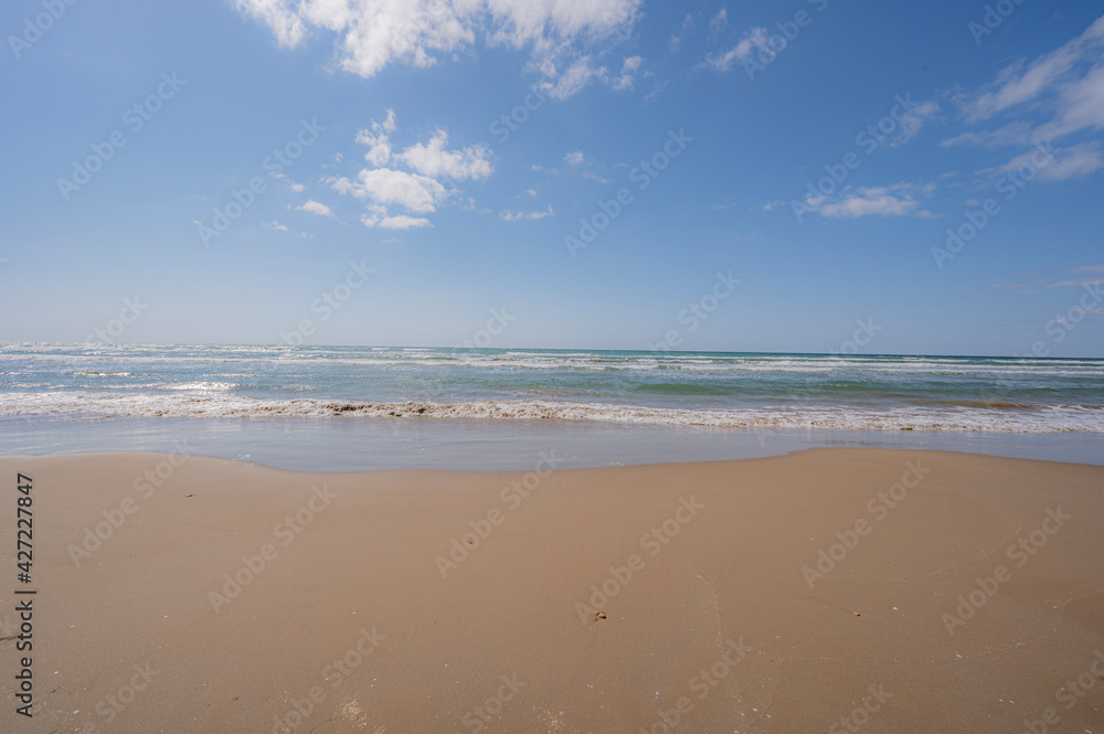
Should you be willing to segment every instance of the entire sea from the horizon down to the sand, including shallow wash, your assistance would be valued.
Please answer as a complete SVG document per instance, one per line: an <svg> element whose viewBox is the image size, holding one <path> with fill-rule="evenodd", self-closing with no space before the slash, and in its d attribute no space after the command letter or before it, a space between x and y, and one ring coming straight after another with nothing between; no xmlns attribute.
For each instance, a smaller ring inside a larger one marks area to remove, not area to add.
<svg viewBox="0 0 1104 734"><path fill-rule="evenodd" d="M584 445L595 437L608 443L609 436L623 436L622 443L652 448L680 439L699 448L710 442L729 447L719 456L707 451L707 458L729 457L734 444L762 447L769 443L767 435L772 440L798 437L798 447L902 440L925 448L1045 445L1066 447L1058 451L1063 460L1096 462L1093 456L1104 445L1104 360L391 347L0 347L4 454L151 448L150 440L160 446L157 442L168 426L174 435L221 437L212 442L221 447L215 455L254 460L254 451L273 454L265 446L275 432L280 442L306 445L344 440L344 450L350 435L358 436L358 446L365 436L375 436L372 444L390 435L391 448L384 446L388 440L373 447L384 454L408 453L411 436L417 435L428 440L421 454L436 457L443 444L458 443L466 446L464 456L485 456L490 466L480 468L499 467L501 461L491 455L503 454L503 446L517 450L513 443L527 435L537 444L559 435ZM901 438L917 432L923 439ZM254 438L242 443L245 435ZM1058 435L1066 438L1057 443ZM1000 436L1009 439L995 440ZM775 448L793 450L787 440L775 442ZM225 448L230 445L232 450ZM253 450L238 450L243 446ZM1074 450L1071 459L1069 447L1078 446L1089 448ZM331 451L331 459L339 453ZM654 450L646 454L644 459L656 456ZM1038 450L1029 454L1048 458ZM684 455L697 456L687 450L667 458L681 460ZM376 457L367 465L333 459L326 466L333 461L341 468L442 464L437 458L410 464ZM461 464L474 468L473 461ZM456 466L455 457L447 466Z"/></svg>

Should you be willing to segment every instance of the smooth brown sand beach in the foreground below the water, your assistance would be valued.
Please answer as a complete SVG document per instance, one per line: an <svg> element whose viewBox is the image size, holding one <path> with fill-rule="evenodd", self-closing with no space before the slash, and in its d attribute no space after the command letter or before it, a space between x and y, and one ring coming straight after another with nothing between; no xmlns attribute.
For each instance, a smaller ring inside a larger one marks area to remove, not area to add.
<svg viewBox="0 0 1104 734"><path fill-rule="evenodd" d="M173 460L0 459L0 731L1104 732L1102 467ZM38 589L33 719L15 587Z"/></svg>

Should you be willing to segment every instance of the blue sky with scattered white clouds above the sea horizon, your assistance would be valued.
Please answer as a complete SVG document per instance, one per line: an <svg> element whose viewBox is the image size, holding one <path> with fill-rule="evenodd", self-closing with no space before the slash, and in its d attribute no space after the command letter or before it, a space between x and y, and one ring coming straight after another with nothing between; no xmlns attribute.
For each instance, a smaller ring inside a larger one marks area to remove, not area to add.
<svg viewBox="0 0 1104 734"><path fill-rule="evenodd" d="M0 341L1104 357L1101 12L13 0Z"/></svg>

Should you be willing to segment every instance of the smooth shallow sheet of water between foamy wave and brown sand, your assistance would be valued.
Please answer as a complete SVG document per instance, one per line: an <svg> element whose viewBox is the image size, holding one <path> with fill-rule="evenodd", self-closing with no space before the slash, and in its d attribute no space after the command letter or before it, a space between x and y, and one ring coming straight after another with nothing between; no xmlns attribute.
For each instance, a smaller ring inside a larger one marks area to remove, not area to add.
<svg viewBox="0 0 1104 734"><path fill-rule="evenodd" d="M818 447L955 450L1104 465L1104 436L946 432L744 430L548 421L363 418L0 419L0 455L184 451L296 471L524 471L540 451L564 467L726 461Z"/></svg>

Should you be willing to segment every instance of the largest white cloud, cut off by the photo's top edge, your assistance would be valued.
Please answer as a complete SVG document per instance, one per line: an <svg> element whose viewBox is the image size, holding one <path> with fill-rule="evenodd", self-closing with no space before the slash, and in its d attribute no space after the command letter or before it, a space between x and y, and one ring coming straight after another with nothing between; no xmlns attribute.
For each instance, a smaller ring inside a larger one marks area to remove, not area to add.
<svg viewBox="0 0 1104 734"><path fill-rule="evenodd" d="M308 25L337 34L337 61L370 77L392 63L427 67L471 46L531 50L530 68L555 96L571 96L593 78L574 60L586 47L607 49L627 36L641 0L235 0L295 47ZM561 73L561 70L566 68ZM565 79L564 77L571 77Z"/></svg>

